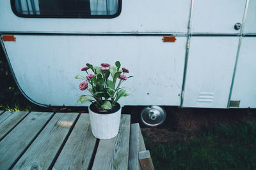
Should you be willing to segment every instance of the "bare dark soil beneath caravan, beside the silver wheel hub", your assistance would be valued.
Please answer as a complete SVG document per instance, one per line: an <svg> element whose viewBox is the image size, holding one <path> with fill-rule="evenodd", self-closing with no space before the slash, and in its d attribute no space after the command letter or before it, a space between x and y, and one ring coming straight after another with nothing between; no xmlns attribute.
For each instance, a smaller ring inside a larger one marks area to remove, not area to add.
<svg viewBox="0 0 256 170"><path fill-rule="evenodd" d="M152 144L175 143L198 138L200 133L216 123L232 125L244 120L256 122L255 109L202 109L175 108L168 113L166 122L159 127L145 127L141 124L143 136Z"/></svg>

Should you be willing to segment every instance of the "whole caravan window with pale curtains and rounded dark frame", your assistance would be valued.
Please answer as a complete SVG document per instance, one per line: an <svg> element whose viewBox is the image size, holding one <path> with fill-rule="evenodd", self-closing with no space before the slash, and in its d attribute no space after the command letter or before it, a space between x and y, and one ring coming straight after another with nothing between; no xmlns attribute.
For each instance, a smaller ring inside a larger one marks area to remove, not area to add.
<svg viewBox="0 0 256 170"><path fill-rule="evenodd" d="M19 17L113 18L120 14L121 0L12 0Z"/></svg>

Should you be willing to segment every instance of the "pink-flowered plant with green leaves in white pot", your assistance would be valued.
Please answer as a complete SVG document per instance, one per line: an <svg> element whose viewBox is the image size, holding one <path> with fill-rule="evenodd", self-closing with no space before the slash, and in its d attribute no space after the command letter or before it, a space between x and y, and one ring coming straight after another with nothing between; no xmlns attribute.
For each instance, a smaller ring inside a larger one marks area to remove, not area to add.
<svg viewBox="0 0 256 170"><path fill-rule="evenodd" d="M79 89L88 90L90 93L80 96L77 103L92 103L89 106L90 124L93 136L99 139L114 138L119 131L122 107L117 101L121 97L129 96L121 85L132 77L125 75L129 73L128 69L120 67L119 61L115 62L115 66L102 63L100 67L87 63L86 67L81 69L87 76L76 76L77 79L84 80Z"/></svg>

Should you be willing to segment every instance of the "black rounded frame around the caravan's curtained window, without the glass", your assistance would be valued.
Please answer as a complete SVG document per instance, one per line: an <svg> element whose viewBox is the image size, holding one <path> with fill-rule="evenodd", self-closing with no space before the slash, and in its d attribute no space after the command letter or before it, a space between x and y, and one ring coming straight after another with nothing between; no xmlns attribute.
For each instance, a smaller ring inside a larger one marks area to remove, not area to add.
<svg viewBox="0 0 256 170"><path fill-rule="evenodd" d="M91 15L91 16L61 16L61 15L30 15L30 14L21 14L15 8L15 0L11 1L12 11L17 17L22 18L116 18L120 15L122 11L122 0L118 0L118 11L114 15Z"/></svg>

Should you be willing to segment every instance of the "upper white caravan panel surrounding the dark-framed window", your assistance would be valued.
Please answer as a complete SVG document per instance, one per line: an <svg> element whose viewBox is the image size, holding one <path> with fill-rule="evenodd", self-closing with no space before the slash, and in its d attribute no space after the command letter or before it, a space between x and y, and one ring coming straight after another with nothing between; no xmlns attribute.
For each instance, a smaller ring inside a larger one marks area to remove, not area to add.
<svg viewBox="0 0 256 170"><path fill-rule="evenodd" d="M188 31L189 0L122 0L116 18L22 18L9 0L0 1L0 31L7 32L182 32Z"/></svg>

